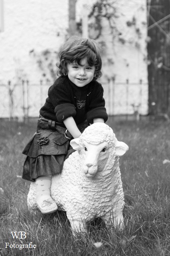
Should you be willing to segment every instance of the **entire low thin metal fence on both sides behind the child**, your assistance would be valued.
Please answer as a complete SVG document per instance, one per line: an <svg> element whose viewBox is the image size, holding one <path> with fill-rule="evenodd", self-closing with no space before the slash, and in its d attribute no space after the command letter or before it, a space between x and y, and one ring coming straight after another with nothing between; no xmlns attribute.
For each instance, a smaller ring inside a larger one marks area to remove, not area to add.
<svg viewBox="0 0 170 256"><path fill-rule="evenodd" d="M50 83L30 84L22 81L18 84L0 84L0 118L23 120L39 116L39 111L47 98ZM104 98L109 115L146 114L148 108L148 84L115 83L114 80L102 83Z"/></svg>

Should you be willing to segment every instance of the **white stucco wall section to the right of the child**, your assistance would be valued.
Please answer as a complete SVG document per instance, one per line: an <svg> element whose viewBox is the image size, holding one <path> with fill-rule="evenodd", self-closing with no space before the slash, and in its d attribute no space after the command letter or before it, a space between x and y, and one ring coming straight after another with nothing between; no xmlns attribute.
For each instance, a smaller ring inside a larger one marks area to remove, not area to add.
<svg viewBox="0 0 170 256"><path fill-rule="evenodd" d="M103 17L102 33L96 39L105 44L100 80L105 91L106 108L110 114L132 114L132 105L135 105L145 115L148 112L146 0L106 2L114 3L116 10L115 29L111 31L108 19ZM90 13L95 0L86 0L85 3ZM85 3L77 0L77 21L81 19ZM92 19L88 22L91 23Z"/></svg>

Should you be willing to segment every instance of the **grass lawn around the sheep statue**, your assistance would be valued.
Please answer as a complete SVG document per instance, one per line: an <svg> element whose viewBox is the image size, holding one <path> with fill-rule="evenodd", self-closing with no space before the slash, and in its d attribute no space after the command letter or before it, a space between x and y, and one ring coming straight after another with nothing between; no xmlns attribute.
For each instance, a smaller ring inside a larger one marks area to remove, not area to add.
<svg viewBox="0 0 170 256"><path fill-rule="evenodd" d="M65 213L32 214L26 207L29 182L22 180L24 146L36 130L28 125L0 122L0 256L169 256L170 255L170 128L162 120L108 122L118 140L129 145L120 158L125 193L125 230L96 220L90 235L74 237ZM13 239L11 231L26 232ZM36 248L5 248L9 244ZM101 247L95 247L102 242Z"/></svg>

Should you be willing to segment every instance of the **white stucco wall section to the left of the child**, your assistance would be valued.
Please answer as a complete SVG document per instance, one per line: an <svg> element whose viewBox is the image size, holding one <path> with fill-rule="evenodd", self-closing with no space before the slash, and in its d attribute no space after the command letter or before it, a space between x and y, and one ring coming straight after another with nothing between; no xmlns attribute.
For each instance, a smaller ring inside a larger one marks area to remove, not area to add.
<svg viewBox="0 0 170 256"><path fill-rule="evenodd" d="M38 116L52 84L48 69L37 63L49 49L52 68L68 29L68 0L4 0L4 31L0 33L0 117ZM48 64L48 63L47 63ZM47 65L45 64L45 65ZM43 74L46 73L44 77ZM57 75L56 75L57 77ZM37 86L22 86L22 80ZM40 89L40 80L44 82ZM13 99L8 92L11 81ZM17 83L17 85L15 85ZM3 84L3 86L2 86ZM26 91L28 89L28 95ZM23 94L24 93L24 94Z"/></svg>

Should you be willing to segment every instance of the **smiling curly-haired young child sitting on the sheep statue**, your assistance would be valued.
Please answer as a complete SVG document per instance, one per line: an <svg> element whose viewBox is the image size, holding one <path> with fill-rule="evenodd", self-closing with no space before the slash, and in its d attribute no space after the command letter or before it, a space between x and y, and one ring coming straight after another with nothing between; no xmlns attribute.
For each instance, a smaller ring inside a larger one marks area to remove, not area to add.
<svg viewBox="0 0 170 256"><path fill-rule="evenodd" d="M64 160L74 151L70 140L108 115L102 85L102 60L96 41L71 37L59 52L59 78L48 90L40 109L37 132L23 150L23 179L35 181L37 207L43 214L57 210L50 195L51 176L62 171Z"/></svg>

